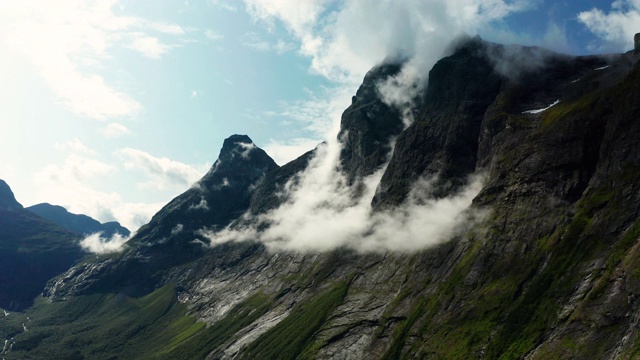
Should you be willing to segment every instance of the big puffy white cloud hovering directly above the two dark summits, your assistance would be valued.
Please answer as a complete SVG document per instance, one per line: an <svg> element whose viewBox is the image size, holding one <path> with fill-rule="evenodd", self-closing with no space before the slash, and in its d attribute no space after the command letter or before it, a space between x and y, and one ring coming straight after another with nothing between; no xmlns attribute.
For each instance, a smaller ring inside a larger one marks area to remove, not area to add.
<svg viewBox="0 0 640 360"><path fill-rule="evenodd" d="M367 0L330 2L245 0L258 21L280 21L300 41L312 69L337 81L360 81L389 57L411 59L428 71L463 32L489 33L495 22L525 11L534 1Z"/></svg>

